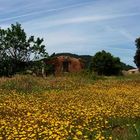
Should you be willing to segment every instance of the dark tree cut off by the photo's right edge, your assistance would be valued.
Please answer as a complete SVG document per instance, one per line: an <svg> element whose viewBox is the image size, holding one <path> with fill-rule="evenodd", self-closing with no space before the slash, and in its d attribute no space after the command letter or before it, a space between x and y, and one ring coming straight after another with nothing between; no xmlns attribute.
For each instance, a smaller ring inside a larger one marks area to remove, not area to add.
<svg viewBox="0 0 140 140"><path fill-rule="evenodd" d="M138 69L140 70L140 37L135 40L136 43L136 54L134 56L134 62Z"/></svg>

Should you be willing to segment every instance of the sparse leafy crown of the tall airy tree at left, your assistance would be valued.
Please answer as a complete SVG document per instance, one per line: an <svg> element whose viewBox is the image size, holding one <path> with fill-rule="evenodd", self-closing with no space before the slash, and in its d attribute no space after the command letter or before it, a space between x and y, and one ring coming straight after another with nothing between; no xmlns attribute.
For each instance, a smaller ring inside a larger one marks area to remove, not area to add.
<svg viewBox="0 0 140 140"><path fill-rule="evenodd" d="M0 29L0 49L7 56L16 61L29 61L46 56L45 46L42 45L43 39L34 36L27 38L21 24L12 24L7 30Z"/></svg>

